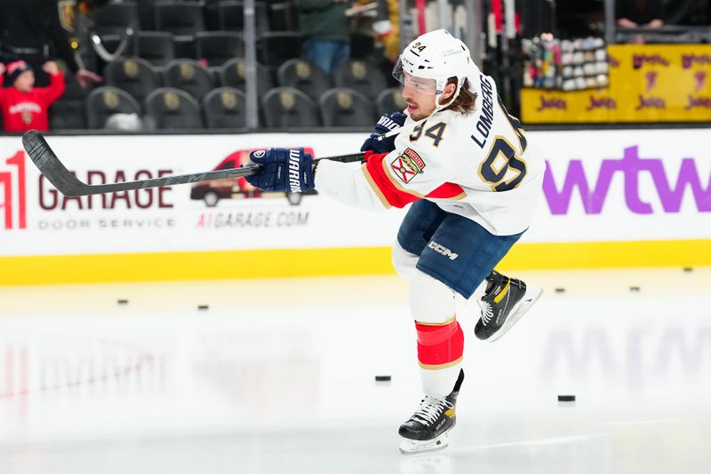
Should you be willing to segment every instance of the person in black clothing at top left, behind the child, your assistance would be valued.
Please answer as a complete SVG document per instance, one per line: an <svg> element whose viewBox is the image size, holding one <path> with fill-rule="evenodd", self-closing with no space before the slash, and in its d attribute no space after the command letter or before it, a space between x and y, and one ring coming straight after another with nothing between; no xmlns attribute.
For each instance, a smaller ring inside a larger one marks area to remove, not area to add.
<svg viewBox="0 0 711 474"><path fill-rule="evenodd" d="M82 4L86 1L81 2ZM42 68L49 57L49 45L76 74L77 82L99 82L100 76L77 62L67 32L60 23L57 0L0 0L0 52L25 60L32 68ZM37 84L49 84L49 77L38 71Z"/></svg>

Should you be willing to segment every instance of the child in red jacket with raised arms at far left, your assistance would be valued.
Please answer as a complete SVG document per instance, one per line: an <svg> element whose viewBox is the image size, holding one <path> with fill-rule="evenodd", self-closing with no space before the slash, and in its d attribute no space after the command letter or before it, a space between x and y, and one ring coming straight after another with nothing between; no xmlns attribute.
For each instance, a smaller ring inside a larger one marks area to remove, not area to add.
<svg viewBox="0 0 711 474"><path fill-rule="evenodd" d="M0 63L0 84L7 71L11 87L0 87L0 108L3 109L5 132L27 132L28 130L49 130L47 109L64 93L64 75L54 61L42 66L50 75L48 87L35 87L35 73L23 60L7 65Z"/></svg>

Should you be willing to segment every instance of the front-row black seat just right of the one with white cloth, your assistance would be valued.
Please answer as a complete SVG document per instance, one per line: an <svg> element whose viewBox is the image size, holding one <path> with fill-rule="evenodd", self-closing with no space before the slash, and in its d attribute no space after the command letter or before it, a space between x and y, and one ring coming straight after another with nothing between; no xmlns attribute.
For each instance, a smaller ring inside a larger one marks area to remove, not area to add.
<svg viewBox="0 0 711 474"><path fill-rule="evenodd" d="M162 87L148 95L146 118L152 128L159 130L204 127L197 100L173 87Z"/></svg>

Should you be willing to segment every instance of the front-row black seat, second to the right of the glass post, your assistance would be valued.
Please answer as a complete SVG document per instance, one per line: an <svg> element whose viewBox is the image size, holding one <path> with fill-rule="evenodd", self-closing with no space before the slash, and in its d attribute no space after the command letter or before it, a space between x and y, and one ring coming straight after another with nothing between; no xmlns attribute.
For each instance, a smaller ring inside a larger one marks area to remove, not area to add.
<svg viewBox="0 0 711 474"><path fill-rule="evenodd" d="M336 87L324 92L318 100L318 108L324 126L370 127L374 122L371 100L353 89Z"/></svg>

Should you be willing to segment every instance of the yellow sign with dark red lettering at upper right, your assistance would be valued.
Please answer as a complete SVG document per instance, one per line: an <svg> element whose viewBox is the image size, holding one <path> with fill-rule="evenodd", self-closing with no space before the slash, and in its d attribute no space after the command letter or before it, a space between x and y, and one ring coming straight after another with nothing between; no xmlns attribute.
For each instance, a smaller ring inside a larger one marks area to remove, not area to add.
<svg viewBox="0 0 711 474"><path fill-rule="evenodd" d="M711 121L711 45L615 44L610 87L521 91L524 123Z"/></svg>

